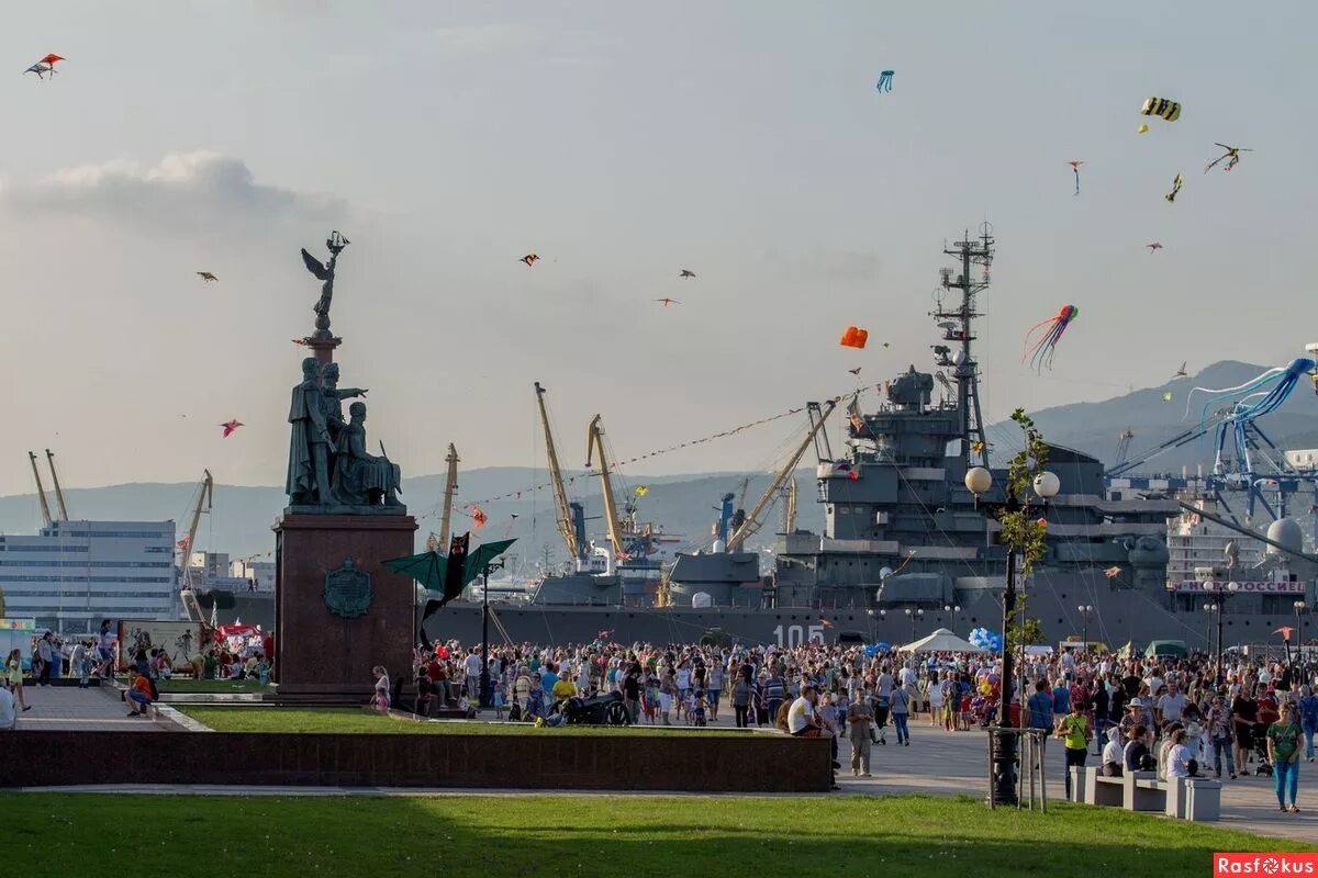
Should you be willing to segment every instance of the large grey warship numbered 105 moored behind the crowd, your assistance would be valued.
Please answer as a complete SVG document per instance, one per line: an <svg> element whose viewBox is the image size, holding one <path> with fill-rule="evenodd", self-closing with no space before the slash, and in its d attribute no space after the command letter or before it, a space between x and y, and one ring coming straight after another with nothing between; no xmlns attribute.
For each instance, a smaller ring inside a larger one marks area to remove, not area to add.
<svg viewBox="0 0 1318 878"><path fill-rule="evenodd" d="M638 578L631 587L612 563L546 578L526 603L492 606L493 636L795 646L904 644L936 628L962 636L1000 631L1007 553L987 508L1003 500L1006 461L986 441L975 359L977 303L990 284L994 250L987 224L944 246L953 265L941 270L931 311L940 333L931 345L934 369L911 366L884 382L876 411L861 411L853 398L838 453L826 421L841 400L811 403L807 440L755 509L742 513L724 498L710 550L679 554L660 578ZM539 386L536 392L543 413ZM811 449L822 533L795 528L792 513L792 473ZM981 498L965 484L977 466L994 482ZM1048 642L1139 649L1173 640L1220 649L1276 640L1275 629L1297 617L1302 624L1314 606L1318 558L1304 552L1292 519L1278 517L1263 533L1213 511L1218 484L1111 478L1098 458L1056 445L1048 469L1061 487L1046 502L1035 499L1048 523L1046 553L1020 583L1024 617L1039 621ZM759 554L741 546L783 495L789 508L775 534L772 575L764 577ZM565 498L558 500L560 530L584 557L579 508L573 515ZM1169 582L1169 527L1184 536L1203 521L1263 549L1242 555L1228 541L1220 557ZM481 603L456 600L427 620L426 633L472 642L481 620Z"/></svg>

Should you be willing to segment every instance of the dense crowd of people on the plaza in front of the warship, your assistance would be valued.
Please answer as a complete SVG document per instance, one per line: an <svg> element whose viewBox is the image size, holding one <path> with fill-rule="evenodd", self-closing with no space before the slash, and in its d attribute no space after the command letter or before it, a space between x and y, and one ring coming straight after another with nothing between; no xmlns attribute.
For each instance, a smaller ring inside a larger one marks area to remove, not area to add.
<svg viewBox="0 0 1318 878"><path fill-rule="evenodd" d="M871 774L873 748L911 746L921 724L957 732L1002 723L1046 731L1062 742L1066 767L1093 756L1106 774L1152 766L1162 777L1206 775L1211 758L1214 777L1223 777L1223 762L1230 779L1271 775L1284 811L1298 807L1300 761L1314 761L1318 732L1318 665L1246 656L1220 667L1209 656L1025 656L1006 716L1000 661L983 653L522 644L493 648L486 662L478 646L452 641L418 650L413 673L424 713L474 715L486 703L497 719L506 710L511 720L552 725L568 699L618 692L633 723L704 725L722 713L738 728L845 738L862 777ZM387 690L377 704L387 706Z"/></svg>

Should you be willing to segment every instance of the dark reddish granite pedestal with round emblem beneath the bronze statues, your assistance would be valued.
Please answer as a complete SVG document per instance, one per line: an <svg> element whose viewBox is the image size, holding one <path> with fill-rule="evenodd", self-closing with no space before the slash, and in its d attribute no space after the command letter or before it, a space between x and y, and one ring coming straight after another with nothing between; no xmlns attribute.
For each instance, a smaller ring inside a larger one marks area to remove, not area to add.
<svg viewBox="0 0 1318 878"><path fill-rule="evenodd" d="M376 665L409 681L416 584L381 562L413 554L415 530L410 515L290 512L275 521L278 700L365 703ZM369 599L355 574L335 578L327 595L327 575L349 561L347 570L369 577Z"/></svg>

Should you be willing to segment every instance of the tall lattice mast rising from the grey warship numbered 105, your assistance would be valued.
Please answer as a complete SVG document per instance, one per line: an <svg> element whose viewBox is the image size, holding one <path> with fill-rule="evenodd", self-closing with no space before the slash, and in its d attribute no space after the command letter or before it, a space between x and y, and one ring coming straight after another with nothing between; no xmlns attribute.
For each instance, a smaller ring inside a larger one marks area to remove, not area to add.
<svg viewBox="0 0 1318 878"><path fill-rule="evenodd" d="M942 251L961 262L961 272L954 275L956 269L942 269L940 279L942 290L960 290L961 301L956 307L945 307L941 295L936 296L936 307L932 317L942 326L944 341L954 341L961 349L952 358L942 353L940 366L952 367L952 376L957 382L957 409L961 416L961 454L970 463L971 449L979 458L981 466L988 466L988 445L985 441L983 415L979 405L979 369L971 353L971 342L975 341L971 326L979 312L975 311L975 296L988 288L988 266L992 265L994 238L992 226L985 222L979 229L979 238L973 240L969 229L963 240L957 241L950 249ZM970 275L971 266L983 266L983 274L977 280ZM948 349L944 348L944 351Z"/></svg>

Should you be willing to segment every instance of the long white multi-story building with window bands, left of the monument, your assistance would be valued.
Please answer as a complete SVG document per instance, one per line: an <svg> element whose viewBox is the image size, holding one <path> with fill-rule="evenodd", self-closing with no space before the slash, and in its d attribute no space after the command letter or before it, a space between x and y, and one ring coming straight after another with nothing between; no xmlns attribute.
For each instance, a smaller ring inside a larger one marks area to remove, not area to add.
<svg viewBox="0 0 1318 878"><path fill-rule="evenodd" d="M0 536L4 615L95 633L103 619L178 619L173 521L55 521Z"/></svg>

